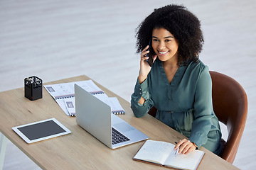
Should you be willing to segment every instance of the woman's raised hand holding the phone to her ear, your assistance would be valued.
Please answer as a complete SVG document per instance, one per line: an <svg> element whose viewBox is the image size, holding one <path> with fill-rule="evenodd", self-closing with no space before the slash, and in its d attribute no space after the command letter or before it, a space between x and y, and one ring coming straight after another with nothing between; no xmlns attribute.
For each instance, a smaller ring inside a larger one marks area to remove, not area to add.
<svg viewBox="0 0 256 170"><path fill-rule="evenodd" d="M146 57L146 55L149 53L149 45L147 45L144 50L142 50L141 54L141 60L140 60L140 70L139 70L139 84L142 84L147 75L149 74L151 67L149 66L149 63L146 62L149 57ZM153 62L156 60L156 55L153 57Z"/></svg>

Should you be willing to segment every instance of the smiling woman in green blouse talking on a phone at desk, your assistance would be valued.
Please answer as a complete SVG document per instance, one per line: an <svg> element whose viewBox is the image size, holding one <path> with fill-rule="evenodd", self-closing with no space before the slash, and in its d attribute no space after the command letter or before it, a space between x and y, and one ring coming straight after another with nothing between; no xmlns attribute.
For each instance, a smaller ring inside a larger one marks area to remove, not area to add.
<svg viewBox="0 0 256 170"><path fill-rule="evenodd" d="M141 60L132 111L140 118L156 107L157 119L188 137L174 147L182 154L201 146L215 154L221 151L209 69L198 59L202 47L201 23L184 6L158 8L137 28ZM151 67L149 57L154 60Z"/></svg>

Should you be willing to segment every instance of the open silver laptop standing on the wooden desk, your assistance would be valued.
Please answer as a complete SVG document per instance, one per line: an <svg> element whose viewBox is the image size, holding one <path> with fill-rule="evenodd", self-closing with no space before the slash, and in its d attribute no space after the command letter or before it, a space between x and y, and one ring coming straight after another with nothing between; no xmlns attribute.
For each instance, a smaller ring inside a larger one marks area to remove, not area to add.
<svg viewBox="0 0 256 170"><path fill-rule="evenodd" d="M80 127L112 149L149 139L144 133L114 115L110 106L77 84L75 116Z"/></svg>

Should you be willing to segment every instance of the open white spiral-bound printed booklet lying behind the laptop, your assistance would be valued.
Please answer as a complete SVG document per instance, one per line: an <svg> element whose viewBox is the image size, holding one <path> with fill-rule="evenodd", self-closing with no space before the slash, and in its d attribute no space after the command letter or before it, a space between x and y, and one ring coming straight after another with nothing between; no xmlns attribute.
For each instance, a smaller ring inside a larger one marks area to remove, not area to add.
<svg viewBox="0 0 256 170"><path fill-rule="evenodd" d="M74 86L78 84L90 94L96 96L101 101L110 106L112 113L124 114L125 111L117 98L108 97L102 89L100 89L92 80L73 81L63 84L50 84L44 85L44 88L50 96L52 96L58 103L60 108L63 109L66 115L75 116L75 90Z"/></svg>

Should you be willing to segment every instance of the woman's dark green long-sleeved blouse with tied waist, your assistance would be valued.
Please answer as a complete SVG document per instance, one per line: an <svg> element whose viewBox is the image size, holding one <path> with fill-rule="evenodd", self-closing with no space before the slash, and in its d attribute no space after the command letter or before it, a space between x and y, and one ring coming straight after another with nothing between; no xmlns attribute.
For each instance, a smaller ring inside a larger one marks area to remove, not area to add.
<svg viewBox="0 0 256 170"><path fill-rule="evenodd" d="M213 112L212 83L208 67L200 60L178 67L171 84L162 62L157 58L147 79L137 83L132 94L131 108L140 118L154 106L156 118L188 137L198 147L211 152L221 151L221 132ZM146 101L139 104L143 97Z"/></svg>

